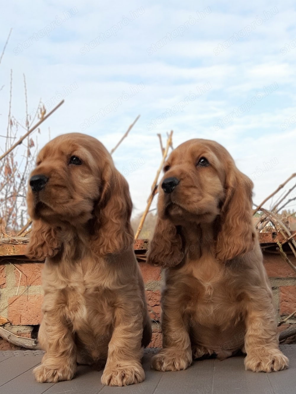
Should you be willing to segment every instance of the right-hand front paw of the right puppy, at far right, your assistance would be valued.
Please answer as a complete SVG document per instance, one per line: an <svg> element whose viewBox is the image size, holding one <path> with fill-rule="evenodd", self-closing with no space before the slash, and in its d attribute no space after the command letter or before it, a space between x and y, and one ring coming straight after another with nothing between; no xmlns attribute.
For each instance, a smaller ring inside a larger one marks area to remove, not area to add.
<svg viewBox="0 0 296 394"><path fill-rule="evenodd" d="M245 358L245 369L253 372L281 371L289 365L288 358L279 349L258 350Z"/></svg>

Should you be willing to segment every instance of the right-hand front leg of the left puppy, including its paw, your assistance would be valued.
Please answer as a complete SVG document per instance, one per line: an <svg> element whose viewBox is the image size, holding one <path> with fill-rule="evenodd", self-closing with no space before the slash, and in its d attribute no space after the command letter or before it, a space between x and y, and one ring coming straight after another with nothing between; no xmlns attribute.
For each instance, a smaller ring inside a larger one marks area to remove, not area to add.
<svg viewBox="0 0 296 394"><path fill-rule="evenodd" d="M115 327L108 346L107 363L101 377L103 385L126 386L145 379L141 365L143 305L134 294L115 310ZM133 302L131 302L133 300Z"/></svg>

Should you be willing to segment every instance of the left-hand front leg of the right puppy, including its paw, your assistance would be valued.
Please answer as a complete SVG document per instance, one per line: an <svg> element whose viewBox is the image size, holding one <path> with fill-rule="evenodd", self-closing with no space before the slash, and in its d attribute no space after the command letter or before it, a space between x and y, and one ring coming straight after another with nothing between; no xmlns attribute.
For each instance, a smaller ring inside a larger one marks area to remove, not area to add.
<svg viewBox="0 0 296 394"><path fill-rule="evenodd" d="M191 342L187 318L180 309L180 302L163 297L161 329L163 349L152 359L152 368L157 371L180 371L192 363Z"/></svg>

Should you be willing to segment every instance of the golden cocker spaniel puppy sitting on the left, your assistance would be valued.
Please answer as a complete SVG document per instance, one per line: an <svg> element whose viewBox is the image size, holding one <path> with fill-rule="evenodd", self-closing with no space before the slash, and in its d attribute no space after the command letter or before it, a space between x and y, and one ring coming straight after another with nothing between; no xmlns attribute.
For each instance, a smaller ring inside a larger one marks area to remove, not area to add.
<svg viewBox="0 0 296 394"><path fill-rule="evenodd" d="M152 329L125 178L97 139L73 133L45 145L29 185L26 255L46 258L36 380L69 380L79 362L105 364L105 385L143 381Z"/></svg>

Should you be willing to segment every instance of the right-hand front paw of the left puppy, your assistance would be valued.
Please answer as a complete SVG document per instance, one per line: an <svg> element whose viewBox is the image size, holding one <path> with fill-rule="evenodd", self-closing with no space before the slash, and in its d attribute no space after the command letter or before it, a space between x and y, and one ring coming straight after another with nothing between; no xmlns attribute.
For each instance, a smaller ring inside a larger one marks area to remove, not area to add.
<svg viewBox="0 0 296 394"><path fill-rule="evenodd" d="M145 379L145 372L139 362L127 363L126 366L106 366L101 377L102 385L127 386L140 383Z"/></svg>

